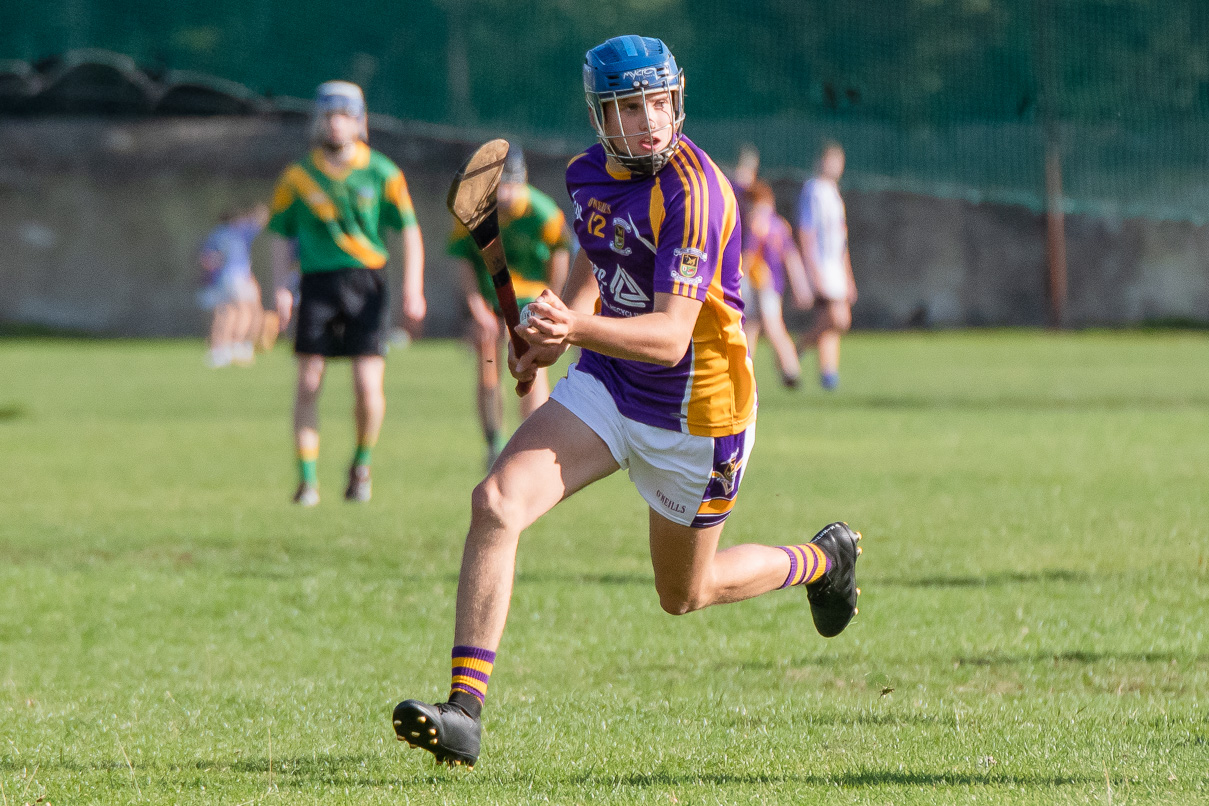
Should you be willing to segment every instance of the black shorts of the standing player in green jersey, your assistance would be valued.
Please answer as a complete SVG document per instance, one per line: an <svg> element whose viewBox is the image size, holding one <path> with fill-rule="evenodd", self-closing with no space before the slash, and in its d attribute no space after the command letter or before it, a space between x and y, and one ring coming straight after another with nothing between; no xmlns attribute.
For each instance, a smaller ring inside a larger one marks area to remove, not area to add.
<svg viewBox="0 0 1209 806"><path fill-rule="evenodd" d="M389 294L382 269L305 273L300 296L295 353L386 355Z"/></svg>

